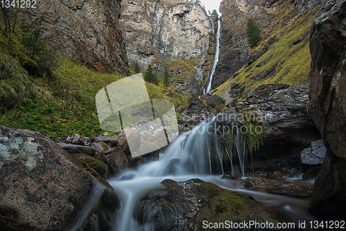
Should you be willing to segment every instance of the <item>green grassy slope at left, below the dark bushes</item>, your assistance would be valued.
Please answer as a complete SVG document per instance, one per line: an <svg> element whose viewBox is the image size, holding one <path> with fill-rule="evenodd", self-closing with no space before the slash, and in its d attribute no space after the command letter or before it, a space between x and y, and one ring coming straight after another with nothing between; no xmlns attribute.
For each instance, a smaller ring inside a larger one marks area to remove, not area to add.
<svg viewBox="0 0 346 231"><path fill-rule="evenodd" d="M0 50L0 55L0 124L39 131L53 138L104 133L98 123L95 94L123 76L96 73L60 57L53 78L38 78L28 75L6 52ZM187 104L184 95L176 93L169 98L168 90L160 86L147 83L147 90L150 98L172 100L177 111Z"/></svg>

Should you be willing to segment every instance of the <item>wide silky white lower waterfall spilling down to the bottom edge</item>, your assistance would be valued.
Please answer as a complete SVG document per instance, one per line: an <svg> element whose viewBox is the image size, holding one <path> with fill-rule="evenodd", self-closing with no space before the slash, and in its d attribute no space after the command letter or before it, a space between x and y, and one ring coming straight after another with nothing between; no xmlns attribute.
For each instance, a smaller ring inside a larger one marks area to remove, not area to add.
<svg viewBox="0 0 346 231"><path fill-rule="evenodd" d="M122 199L116 230L145 230L143 227L140 228L132 218L134 206L140 196L149 189L160 187L161 181L166 178L174 179L174 181L187 181L190 178L214 181L215 174L224 174L222 165L224 153L230 157L233 168L232 154L229 154L232 153L231 146L223 146L224 150L221 150L219 144L221 134L218 133L217 126L222 120L220 118L224 119L225 115L219 114L201 122L191 131L181 134L167 147L164 154L160 154L158 160L140 165L136 170L128 170L109 180ZM235 117L228 120L235 121ZM237 153L242 155L244 153L240 145L239 128L236 131L235 147ZM243 168L244 157L239 158L243 162L240 164ZM244 174L244 171L242 173ZM147 230L151 229L147 228Z"/></svg>

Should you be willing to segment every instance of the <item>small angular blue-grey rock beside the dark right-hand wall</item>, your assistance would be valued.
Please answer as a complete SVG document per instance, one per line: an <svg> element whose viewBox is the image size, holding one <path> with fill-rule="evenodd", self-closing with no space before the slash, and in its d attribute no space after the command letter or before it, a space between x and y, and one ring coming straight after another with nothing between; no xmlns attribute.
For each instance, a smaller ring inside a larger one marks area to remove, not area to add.
<svg viewBox="0 0 346 231"><path fill-rule="evenodd" d="M323 145L323 141L316 140L311 142L311 147L300 152L302 163L305 165L319 165L323 163L327 148Z"/></svg>

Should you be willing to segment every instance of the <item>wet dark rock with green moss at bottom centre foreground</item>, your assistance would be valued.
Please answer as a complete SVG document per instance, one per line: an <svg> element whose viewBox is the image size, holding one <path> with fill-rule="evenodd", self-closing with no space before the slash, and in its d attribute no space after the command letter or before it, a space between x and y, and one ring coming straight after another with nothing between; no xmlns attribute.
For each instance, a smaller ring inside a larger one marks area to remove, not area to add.
<svg viewBox="0 0 346 231"><path fill-rule="evenodd" d="M134 219L141 225L152 223L152 230L204 230L203 221L278 222L247 194L226 192L199 179L162 184L165 188L149 191L134 210Z"/></svg>

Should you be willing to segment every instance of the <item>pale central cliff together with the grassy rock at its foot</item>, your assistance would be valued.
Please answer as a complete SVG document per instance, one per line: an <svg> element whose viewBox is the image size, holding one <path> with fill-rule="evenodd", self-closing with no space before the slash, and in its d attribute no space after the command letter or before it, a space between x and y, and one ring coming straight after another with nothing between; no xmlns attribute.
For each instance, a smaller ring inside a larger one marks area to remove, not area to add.
<svg viewBox="0 0 346 231"><path fill-rule="evenodd" d="M212 26L199 3L188 1L123 0L120 27L130 61L142 68L156 67L170 85L197 95Z"/></svg>

